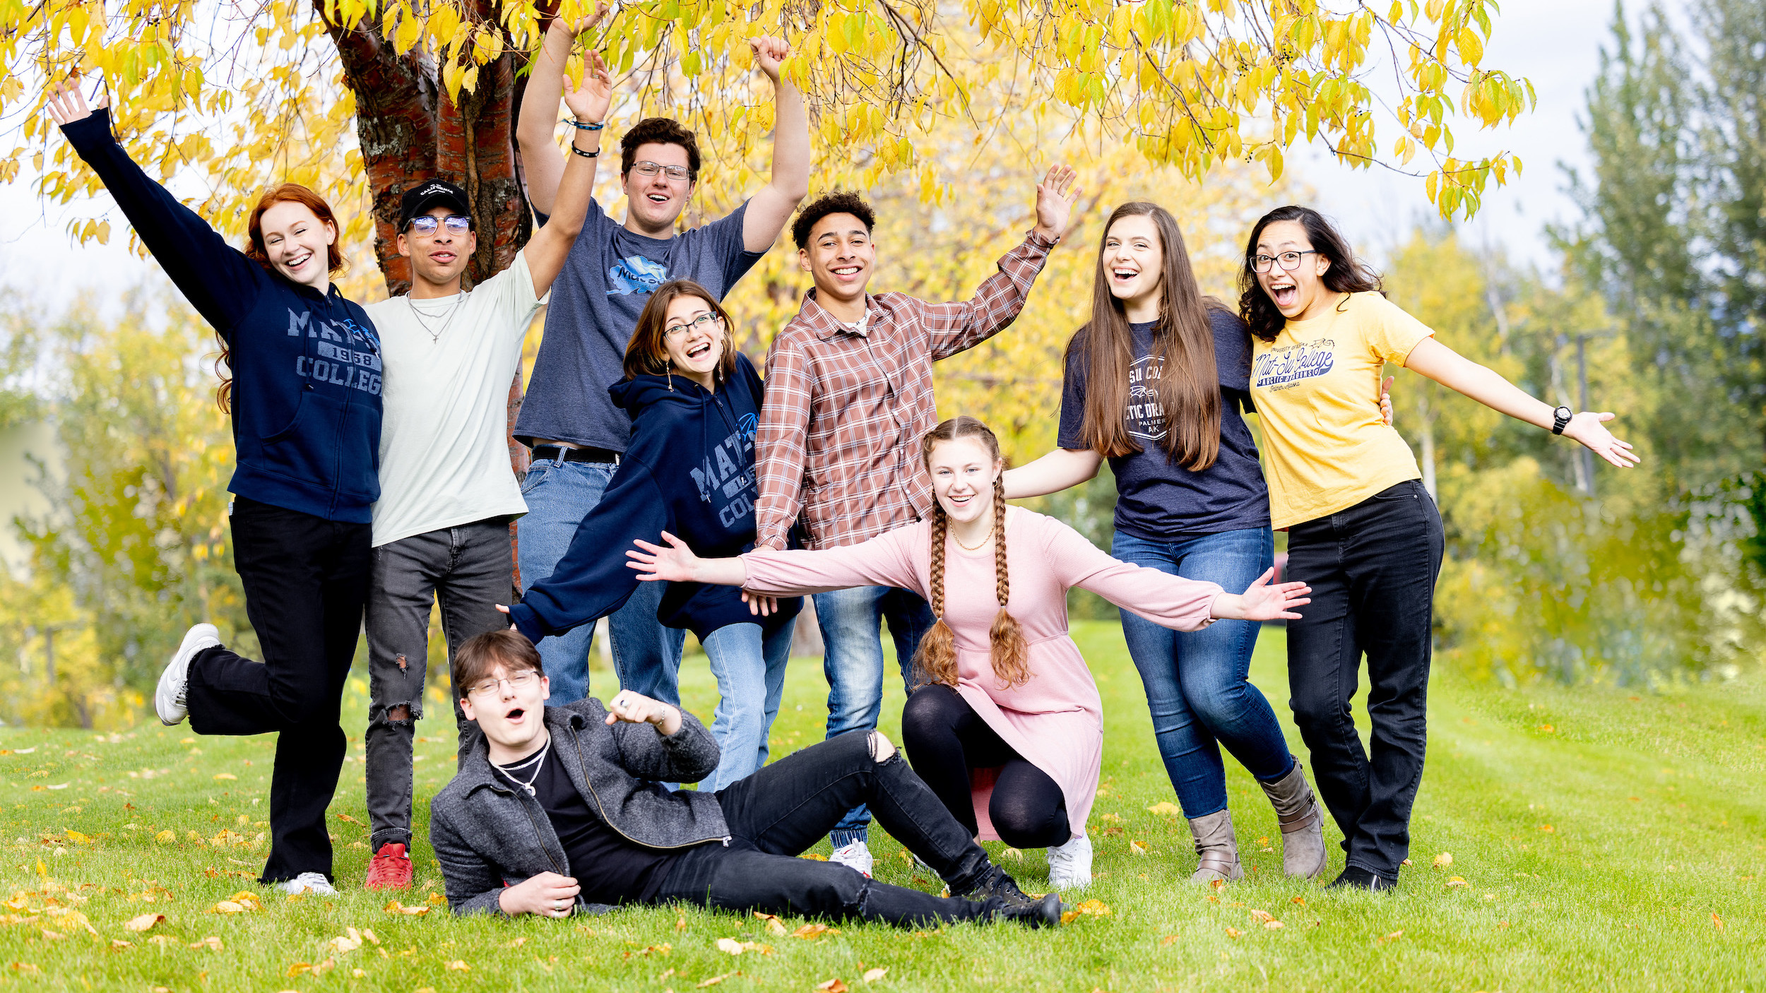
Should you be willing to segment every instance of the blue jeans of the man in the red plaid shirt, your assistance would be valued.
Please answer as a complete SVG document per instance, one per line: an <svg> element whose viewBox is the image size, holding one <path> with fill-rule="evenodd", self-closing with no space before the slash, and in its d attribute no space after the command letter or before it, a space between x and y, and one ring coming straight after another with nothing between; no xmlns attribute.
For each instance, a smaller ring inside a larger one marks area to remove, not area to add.
<svg viewBox="0 0 1766 993"><path fill-rule="evenodd" d="M932 608L913 590L897 587L853 587L816 594L816 624L821 625L821 671L828 677L828 737L869 731L883 710L883 620L895 640L901 682L913 693L913 654L932 629ZM835 848L869 836L871 811L846 811L828 839Z"/></svg>

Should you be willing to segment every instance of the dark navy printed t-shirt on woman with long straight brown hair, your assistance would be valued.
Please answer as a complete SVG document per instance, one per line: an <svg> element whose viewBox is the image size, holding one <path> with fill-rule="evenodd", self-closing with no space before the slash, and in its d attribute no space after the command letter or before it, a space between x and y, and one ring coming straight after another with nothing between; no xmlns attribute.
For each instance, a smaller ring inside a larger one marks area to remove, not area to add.
<svg viewBox="0 0 1766 993"><path fill-rule="evenodd" d="M1194 472L1166 456L1164 412L1153 385L1162 362L1151 355L1153 325L1130 323L1128 436L1141 451L1109 459L1116 474L1116 530L1146 541L1190 541L1210 534L1270 527L1270 489L1257 443L1240 410L1250 410L1250 332L1245 322L1210 307L1215 368L1220 373L1220 456ZM1086 449L1084 357L1072 355L1061 383L1060 447Z"/></svg>

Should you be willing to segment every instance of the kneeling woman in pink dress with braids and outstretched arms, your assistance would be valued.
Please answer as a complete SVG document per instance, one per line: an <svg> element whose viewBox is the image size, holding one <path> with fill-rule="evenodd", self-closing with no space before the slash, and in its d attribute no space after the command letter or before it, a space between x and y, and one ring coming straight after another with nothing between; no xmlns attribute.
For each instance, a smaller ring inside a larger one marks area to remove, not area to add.
<svg viewBox="0 0 1766 993"><path fill-rule="evenodd" d="M1000 442L973 417L929 431L931 519L821 551L699 558L664 534L627 551L645 580L743 587L763 597L846 587L904 587L927 597L938 625L915 657L924 680L902 710L913 770L980 838L1049 850L1049 883L1091 882L1086 818L1104 753L1104 707L1067 634L1067 590L1079 587L1155 624L1196 631L1215 618L1294 620L1303 583L1243 594L1128 565L1054 518L1007 507ZM1017 583L1012 583L1012 578Z"/></svg>

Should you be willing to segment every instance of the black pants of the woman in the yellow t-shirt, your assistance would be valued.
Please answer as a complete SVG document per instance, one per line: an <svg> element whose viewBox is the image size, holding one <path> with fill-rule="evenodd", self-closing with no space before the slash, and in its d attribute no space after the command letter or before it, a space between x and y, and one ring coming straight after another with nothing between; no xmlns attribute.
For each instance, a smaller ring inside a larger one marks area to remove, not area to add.
<svg viewBox="0 0 1766 993"><path fill-rule="evenodd" d="M1386 878L1411 848L1439 572L1441 514L1418 481L1287 530L1284 578L1312 587L1287 624L1289 705L1347 862ZM1363 652L1372 754L1349 712Z"/></svg>

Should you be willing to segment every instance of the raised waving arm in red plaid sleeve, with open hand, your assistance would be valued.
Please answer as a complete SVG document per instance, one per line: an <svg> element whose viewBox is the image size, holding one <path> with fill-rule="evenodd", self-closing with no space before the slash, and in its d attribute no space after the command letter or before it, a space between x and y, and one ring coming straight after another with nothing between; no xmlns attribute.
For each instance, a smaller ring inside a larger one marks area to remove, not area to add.
<svg viewBox="0 0 1766 993"><path fill-rule="evenodd" d="M1049 251L1072 224L1074 203L1079 200L1074 178L1074 170L1067 166L1049 168L1037 184L1037 226L1024 237L1024 244L1000 258L1000 272L984 279L971 299L925 306L922 320L932 336L934 362L987 341L1017 320L1031 284L1049 262Z"/></svg>

